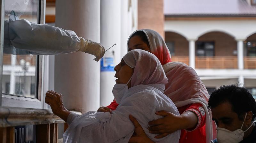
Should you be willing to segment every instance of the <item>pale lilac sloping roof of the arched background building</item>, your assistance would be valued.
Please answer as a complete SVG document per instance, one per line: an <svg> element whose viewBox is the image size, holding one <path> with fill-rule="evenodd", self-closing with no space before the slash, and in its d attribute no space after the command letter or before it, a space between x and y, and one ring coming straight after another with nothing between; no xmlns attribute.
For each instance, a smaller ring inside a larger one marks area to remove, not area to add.
<svg viewBox="0 0 256 143"><path fill-rule="evenodd" d="M246 0L164 0L165 16L256 16Z"/></svg>

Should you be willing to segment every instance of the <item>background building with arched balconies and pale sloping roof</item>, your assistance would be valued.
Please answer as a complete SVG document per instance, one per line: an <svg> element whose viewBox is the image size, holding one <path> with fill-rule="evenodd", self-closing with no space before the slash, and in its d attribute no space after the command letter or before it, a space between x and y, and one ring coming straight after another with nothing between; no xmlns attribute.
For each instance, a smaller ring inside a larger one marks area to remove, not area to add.
<svg viewBox="0 0 256 143"><path fill-rule="evenodd" d="M254 1L164 1L172 61L193 67L208 91L241 83L256 97Z"/></svg>

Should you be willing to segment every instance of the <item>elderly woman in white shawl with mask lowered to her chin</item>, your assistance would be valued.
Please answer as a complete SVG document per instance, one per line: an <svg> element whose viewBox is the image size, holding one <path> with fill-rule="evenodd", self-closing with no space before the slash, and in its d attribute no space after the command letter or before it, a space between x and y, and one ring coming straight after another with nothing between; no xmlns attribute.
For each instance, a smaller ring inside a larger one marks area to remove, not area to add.
<svg viewBox="0 0 256 143"><path fill-rule="evenodd" d="M69 124L64 142L128 142L134 132L129 119L132 114L152 141L178 143L180 130L156 139L147 129L149 121L161 118L156 111L179 115L174 103L164 95L164 84L168 79L157 57L144 50L132 50L123 57L115 71L117 79L112 92L119 105L111 113L88 112L79 116L65 109L61 94L46 93L45 102L51 105L53 113Z"/></svg>

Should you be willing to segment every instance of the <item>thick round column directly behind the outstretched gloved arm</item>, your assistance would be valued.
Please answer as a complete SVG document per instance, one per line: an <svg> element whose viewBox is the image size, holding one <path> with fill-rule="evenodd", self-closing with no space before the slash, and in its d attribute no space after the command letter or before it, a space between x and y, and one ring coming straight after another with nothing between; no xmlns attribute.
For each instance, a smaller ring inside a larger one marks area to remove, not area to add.
<svg viewBox="0 0 256 143"><path fill-rule="evenodd" d="M100 0L56 1L56 26L100 42ZM100 62L84 52L55 56L54 87L67 109L85 113L100 107Z"/></svg>

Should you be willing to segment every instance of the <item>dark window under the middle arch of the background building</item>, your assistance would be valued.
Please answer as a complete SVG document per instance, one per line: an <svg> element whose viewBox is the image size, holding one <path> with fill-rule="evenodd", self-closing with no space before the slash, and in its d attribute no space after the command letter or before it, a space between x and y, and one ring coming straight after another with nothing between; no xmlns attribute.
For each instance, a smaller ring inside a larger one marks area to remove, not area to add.
<svg viewBox="0 0 256 143"><path fill-rule="evenodd" d="M196 56L214 56L214 42L196 42Z"/></svg>

